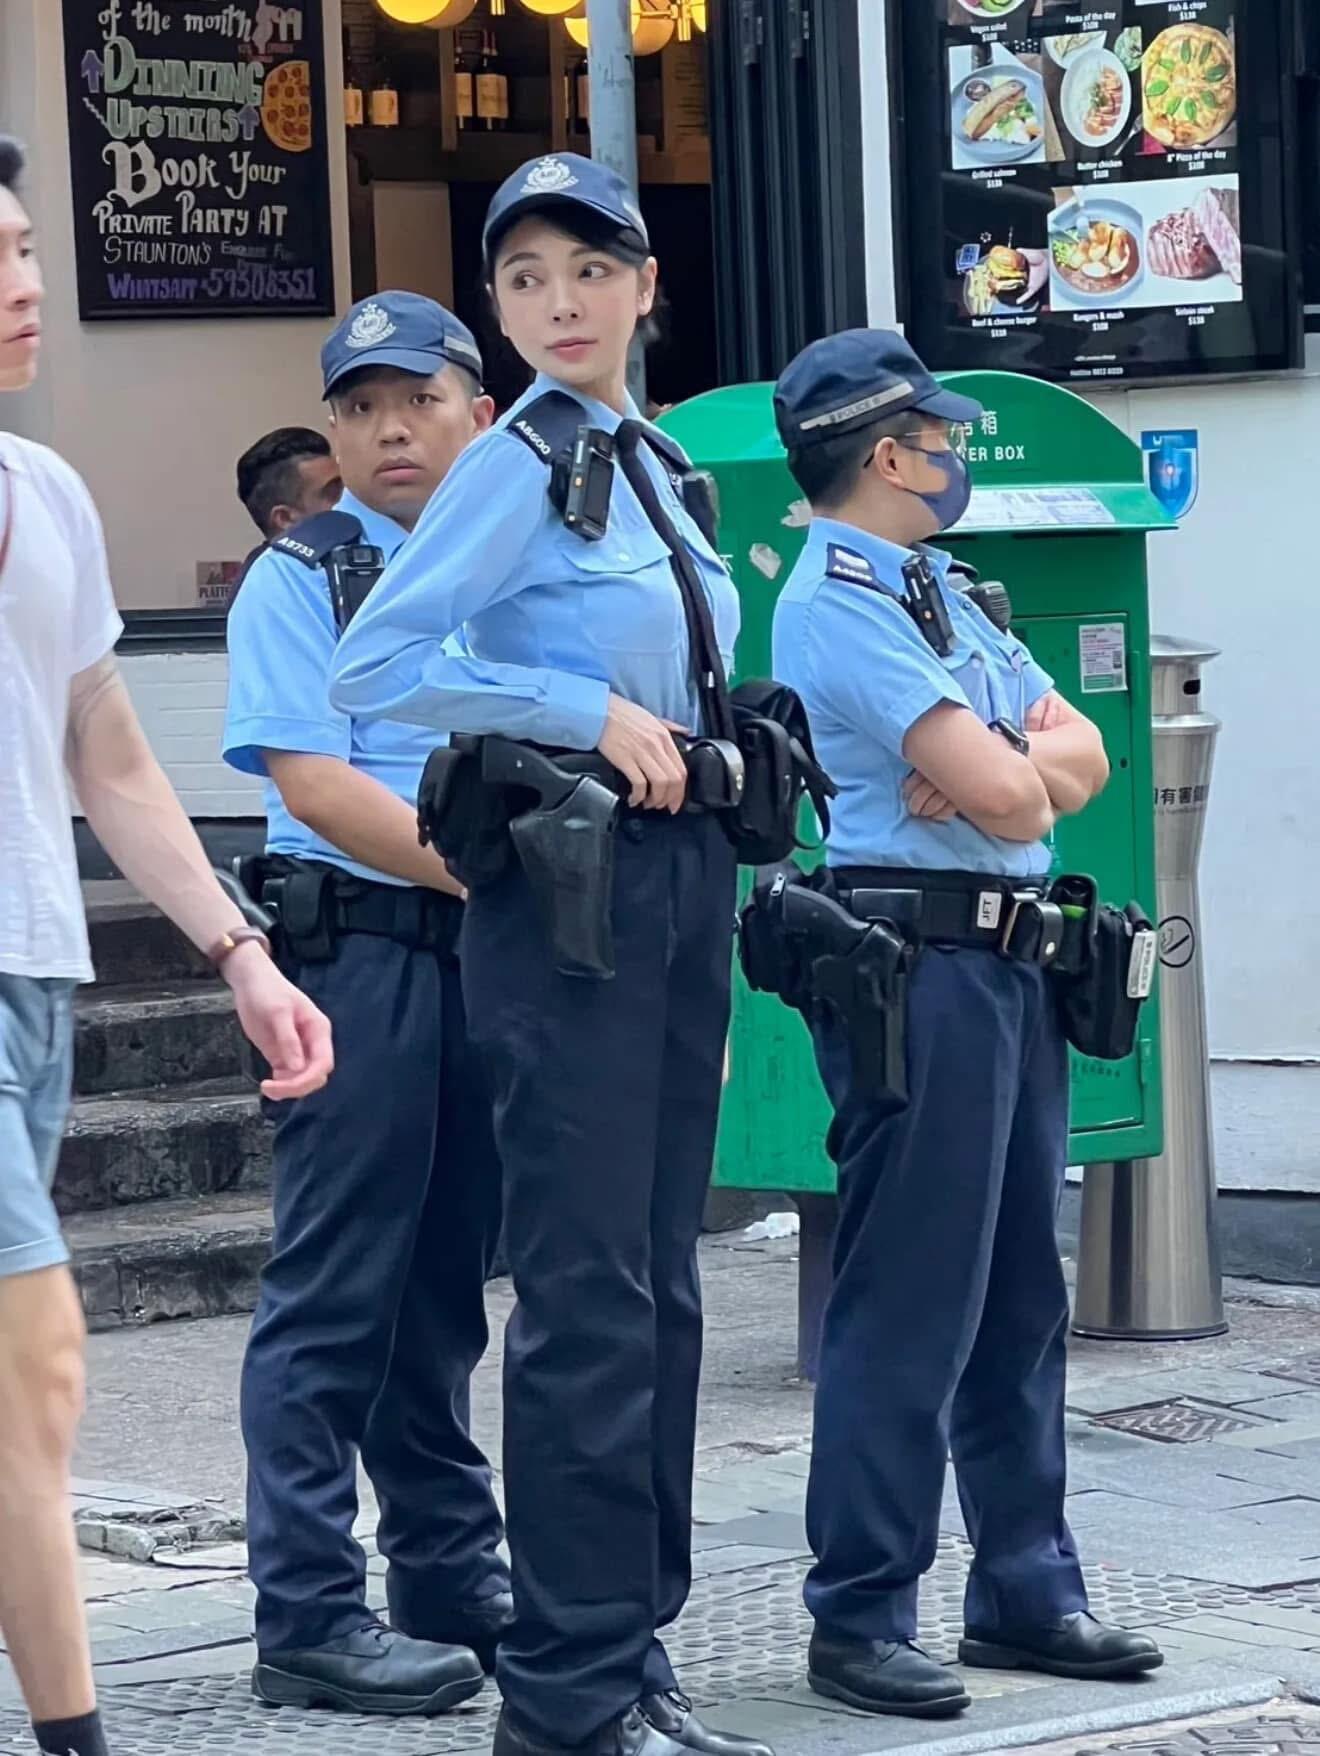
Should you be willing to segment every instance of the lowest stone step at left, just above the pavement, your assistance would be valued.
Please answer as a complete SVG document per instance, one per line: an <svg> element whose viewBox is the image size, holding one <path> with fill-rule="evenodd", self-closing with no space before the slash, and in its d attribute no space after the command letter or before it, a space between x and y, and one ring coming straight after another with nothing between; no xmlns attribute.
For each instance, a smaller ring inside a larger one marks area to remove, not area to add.
<svg viewBox="0 0 1320 1756"><path fill-rule="evenodd" d="M77 1213L65 1226L91 1329L256 1305L270 1206L251 1191Z"/></svg>

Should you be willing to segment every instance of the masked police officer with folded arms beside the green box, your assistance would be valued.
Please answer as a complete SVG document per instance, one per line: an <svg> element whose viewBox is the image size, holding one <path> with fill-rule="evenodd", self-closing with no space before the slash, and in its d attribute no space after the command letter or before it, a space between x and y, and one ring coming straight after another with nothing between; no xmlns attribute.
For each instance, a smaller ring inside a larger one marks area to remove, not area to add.
<svg viewBox="0 0 1320 1756"><path fill-rule="evenodd" d="M899 918L916 961L906 1106L858 1078L841 1020L814 1026L839 1164L806 1584L811 1686L872 1712L967 1705L916 1637L953 1456L976 1549L965 1665L1127 1677L1160 1652L1087 1610L1064 1521L1067 1292L1055 1206L1067 1064L1044 964L1018 932L1044 838L1106 783L1095 727L925 544L957 525L964 434L900 335L814 342L776 388L811 532L774 616L774 674L802 695L839 783L832 894Z"/></svg>

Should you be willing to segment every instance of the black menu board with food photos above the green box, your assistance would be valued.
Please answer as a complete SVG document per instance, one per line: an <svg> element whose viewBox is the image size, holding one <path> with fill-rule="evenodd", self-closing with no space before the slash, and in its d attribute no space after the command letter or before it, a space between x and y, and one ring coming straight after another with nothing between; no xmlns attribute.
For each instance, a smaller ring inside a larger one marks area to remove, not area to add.
<svg viewBox="0 0 1320 1756"><path fill-rule="evenodd" d="M902 0L906 325L1072 383L1301 365L1288 0Z"/></svg>

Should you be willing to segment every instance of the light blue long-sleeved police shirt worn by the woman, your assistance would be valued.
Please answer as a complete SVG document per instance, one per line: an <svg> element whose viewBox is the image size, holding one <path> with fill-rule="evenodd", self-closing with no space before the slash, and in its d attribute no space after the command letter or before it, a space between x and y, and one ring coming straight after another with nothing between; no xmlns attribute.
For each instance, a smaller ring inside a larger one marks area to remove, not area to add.
<svg viewBox="0 0 1320 1756"><path fill-rule="evenodd" d="M449 471L339 643L337 708L592 750L613 690L695 730L683 599L623 471L606 536L586 543L549 502L548 464L506 430L528 402L563 388L539 378ZM620 425L613 409L567 393L590 425ZM667 471L648 446L641 455L692 550L732 666L739 602L728 572ZM463 646L442 644L460 627Z"/></svg>

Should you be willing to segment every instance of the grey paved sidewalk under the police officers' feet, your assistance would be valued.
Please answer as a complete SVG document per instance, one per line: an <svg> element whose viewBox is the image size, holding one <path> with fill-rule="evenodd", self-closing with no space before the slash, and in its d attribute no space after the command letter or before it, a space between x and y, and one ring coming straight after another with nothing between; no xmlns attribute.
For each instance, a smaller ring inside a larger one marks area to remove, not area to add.
<svg viewBox="0 0 1320 1756"><path fill-rule="evenodd" d="M922 1726L825 1703L802 1682L809 1396L792 1380L792 1245L714 1240L704 1247L704 1266L711 1364L695 1586L672 1651L685 1686L716 1723L769 1737L779 1756L971 1756L1025 1745L1058 1756L1320 1751L1320 1716L1306 1705L1320 1698L1316 1294L1239 1287L1232 1331L1216 1342L1076 1343L1069 1512L1088 1584L1097 1612L1155 1633L1167 1665L1144 1682L1116 1686L971 1673L971 1710L955 1723ZM506 1303L497 1289L497 1319ZM430 1723L298 1716L251 1703L244 1554L223 1508L202 1505L216 1484L232 1487L240 1463L233 1375L242 1328L207 1322L97 1342L88 1456L102 1479L82 1491L84 1540L153 1556L144 1563L90 1554L84 1563L116 1756L167 1749L448 1756L486 1747L493 1691L470 1710ZM477 1387L479 1429L490 1445L499 1428L497 1354ZM184 1494L160 1475L167 1465L179 1470L181 1443L191 1445L197 1470L174 1477L188 1486ZM133 1486L130 1477L144 1482ZM233 1503L228 1491L221 1498ZM362 1529L372 1528L367 1505ZM939 1563L923 1591L923 1640L941 1658L957 1647L965 1561L950 1491ZM379 1601L377 1558L370 1580ZM5 1679L0 1752L30 1747L21 1714L5 1705L14 1702ZM1199 1730L1176 1724L1187 1719ZM1137 1737L1136 1728L1160 1723L1174 1724ZM1123 1742L1125 1731L1137 1742Z"/></svg>

